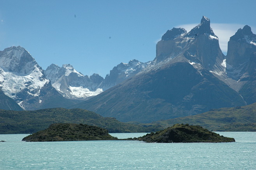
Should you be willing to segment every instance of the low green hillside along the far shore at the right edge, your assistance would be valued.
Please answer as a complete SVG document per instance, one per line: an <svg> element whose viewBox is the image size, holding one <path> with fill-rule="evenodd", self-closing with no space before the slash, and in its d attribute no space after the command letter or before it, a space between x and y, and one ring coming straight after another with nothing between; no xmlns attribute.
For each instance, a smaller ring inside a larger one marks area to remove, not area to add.
<svg viewBox="0 0 256 170"><path fill-rule="evenodd" d="M163 127L170 127L176 123L189 123L211 131L256 132L256 103L234 108L211 109L202 114L154 123Z"/></svg>

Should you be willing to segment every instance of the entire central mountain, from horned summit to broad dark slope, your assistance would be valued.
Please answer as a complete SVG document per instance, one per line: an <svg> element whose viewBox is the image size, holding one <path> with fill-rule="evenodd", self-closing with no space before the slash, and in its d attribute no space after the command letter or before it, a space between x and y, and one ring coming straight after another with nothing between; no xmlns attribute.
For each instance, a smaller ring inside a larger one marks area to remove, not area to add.
<svg viewBox="0 0 256 170"><path fill-rule="evenodd" d="M203 16L188 33L168 30L143 71L71 108L148 123L245 105L240 94L215 76L226 74L224 59L210 19Z"/></svg>

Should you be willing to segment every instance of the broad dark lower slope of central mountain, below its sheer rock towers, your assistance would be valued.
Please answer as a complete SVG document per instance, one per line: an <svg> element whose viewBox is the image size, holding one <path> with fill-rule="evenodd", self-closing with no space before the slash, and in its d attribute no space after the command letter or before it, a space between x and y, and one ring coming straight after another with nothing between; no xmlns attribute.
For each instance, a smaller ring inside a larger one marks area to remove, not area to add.
<svg viewBox="0 0 256 170"><path fill-rule="evenodd" d="M188 62L175 62L137 75L75 108L87 108L120 121L147 123L244 104L233 89L209 71L202 70L201 74Z"/></svg>

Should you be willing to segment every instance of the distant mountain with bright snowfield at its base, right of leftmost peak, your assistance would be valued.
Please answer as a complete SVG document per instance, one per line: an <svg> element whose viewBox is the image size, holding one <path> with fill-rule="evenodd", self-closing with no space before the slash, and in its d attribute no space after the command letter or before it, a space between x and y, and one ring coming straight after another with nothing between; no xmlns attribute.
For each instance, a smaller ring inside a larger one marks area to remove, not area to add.
<svg viewBox="0 0 256 170"><path fill-rule="evenodd" d="M103 78L100 75L84 76L70 64L63 64L62 67L51 64L44 73L53 87L68 99L84 100L103 91Z"/></svg>

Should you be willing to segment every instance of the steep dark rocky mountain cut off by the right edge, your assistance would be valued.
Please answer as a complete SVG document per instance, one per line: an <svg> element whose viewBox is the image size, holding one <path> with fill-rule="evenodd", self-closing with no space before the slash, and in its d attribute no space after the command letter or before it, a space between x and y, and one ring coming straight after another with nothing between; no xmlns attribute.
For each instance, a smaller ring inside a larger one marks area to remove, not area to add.
<svg viewBox="0 0 256 170"><path fill-rule="evenodd" d="M226 72L247 104L256 102L256 35L245 25L228 42Z"/></svg>

